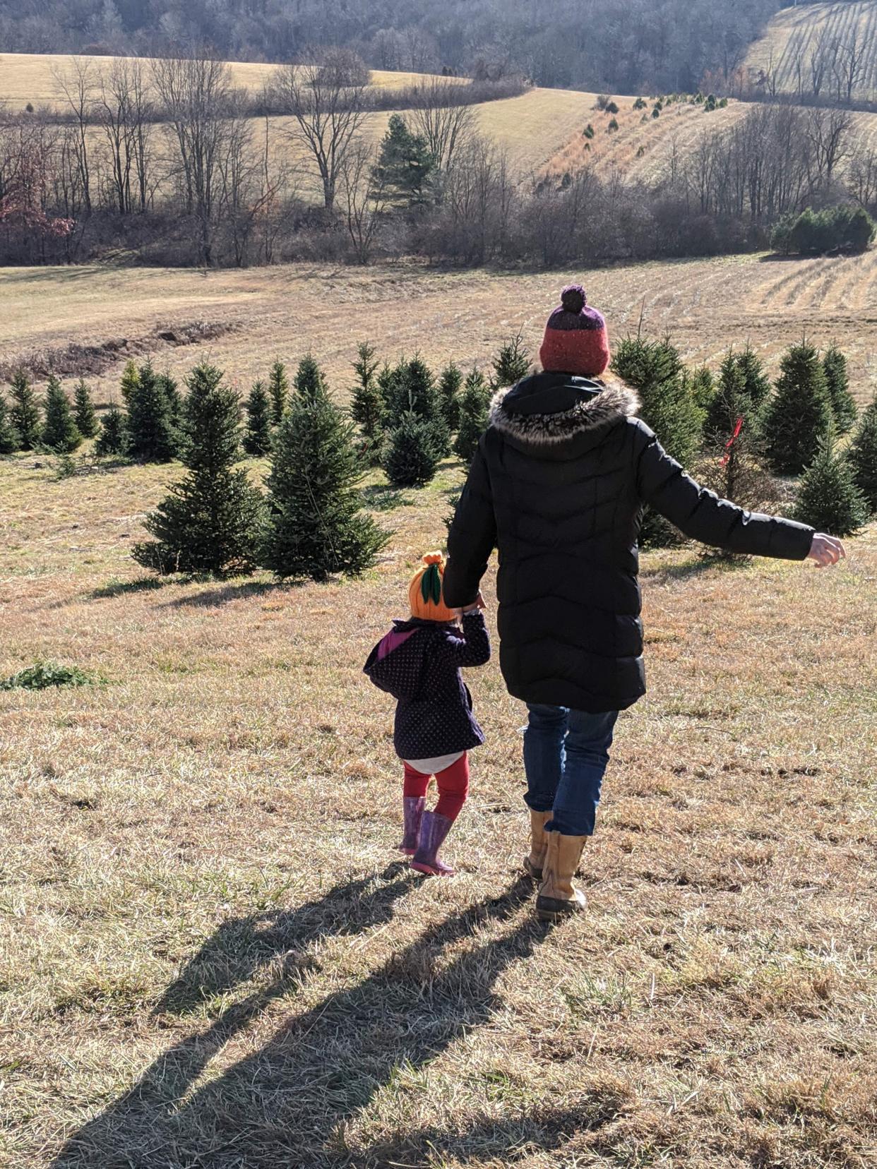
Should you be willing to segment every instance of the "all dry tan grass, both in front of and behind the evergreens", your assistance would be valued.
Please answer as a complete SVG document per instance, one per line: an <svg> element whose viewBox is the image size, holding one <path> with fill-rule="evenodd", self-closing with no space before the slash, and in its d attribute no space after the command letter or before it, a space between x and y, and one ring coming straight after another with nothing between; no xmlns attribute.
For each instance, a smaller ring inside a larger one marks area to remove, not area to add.
<svg viewBox="0 0 877 1169"><path fill-rule="evenodd" d="M310 343L343 387L367 336L433 361L532 345L565 276L19 270L0 360L210 318L240 328L161 358L243 383ZM872 282L871 257L755 257L589 285L616 334L645 291L697 357L774 354L819 310L863 396ZM46 656L108 684L0 692L0 1164L875 1163L877 526L831 573L643 558L650 694L620 722L591 911L546 931L496 663L470 678L460 876L393 851L392 707L360 666L458 466L375 476L381 562L296 586L144 579L129 549L178 469L44 462L0 462L0 678Z"/></svg>

